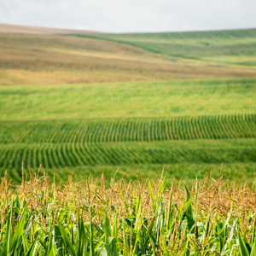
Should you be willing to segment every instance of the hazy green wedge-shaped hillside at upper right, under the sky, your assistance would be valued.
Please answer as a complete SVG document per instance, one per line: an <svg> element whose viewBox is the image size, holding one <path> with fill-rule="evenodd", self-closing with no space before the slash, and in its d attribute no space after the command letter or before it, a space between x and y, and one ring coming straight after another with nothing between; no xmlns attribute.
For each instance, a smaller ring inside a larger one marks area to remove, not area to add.
<svg viewBox="0 0 256 256"><path fill-rule="evenodd" d="M130 44L162 55L256 66L256 29L96 34L85 37Z"/></svg>

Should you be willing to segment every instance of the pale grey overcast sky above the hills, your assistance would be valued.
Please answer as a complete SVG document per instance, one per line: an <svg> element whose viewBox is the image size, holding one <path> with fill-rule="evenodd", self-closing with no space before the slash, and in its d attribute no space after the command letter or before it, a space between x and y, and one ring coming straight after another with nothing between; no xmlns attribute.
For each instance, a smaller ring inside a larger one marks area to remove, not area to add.
<svg viewBox="0 0 256 256"><path fill-rule="evenodd" d="M256 27L256 0L0 0L0 23L97 32Z"/></svg>

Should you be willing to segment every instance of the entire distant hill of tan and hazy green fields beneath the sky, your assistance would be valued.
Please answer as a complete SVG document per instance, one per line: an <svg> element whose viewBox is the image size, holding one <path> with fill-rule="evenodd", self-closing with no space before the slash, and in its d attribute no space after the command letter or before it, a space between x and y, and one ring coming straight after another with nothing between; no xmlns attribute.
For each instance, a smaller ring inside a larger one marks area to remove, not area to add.
<svg viewBox="0 0 256 256"><path fill-rule="evenodd" d="M109 34L0 24L0 85L255 76L256 30Z"/></svg>

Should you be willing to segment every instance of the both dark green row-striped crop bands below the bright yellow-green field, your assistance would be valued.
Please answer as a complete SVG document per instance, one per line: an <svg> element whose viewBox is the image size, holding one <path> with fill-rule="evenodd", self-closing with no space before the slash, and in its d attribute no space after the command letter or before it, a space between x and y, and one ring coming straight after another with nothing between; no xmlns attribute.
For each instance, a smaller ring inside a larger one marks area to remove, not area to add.
<svg viewBox="0 0 256 256"><path fill-rule="evenodd" d="M41 163L49 170L131 163L254 162L255 119L254 113L244 113L100 121L1 121L0 171L4 174L12 170L19 180L22 160L32 170ZM236 147L228 141L231 139L239 140L235 141ZM217 146L218 142L222 145Z"/></svg>

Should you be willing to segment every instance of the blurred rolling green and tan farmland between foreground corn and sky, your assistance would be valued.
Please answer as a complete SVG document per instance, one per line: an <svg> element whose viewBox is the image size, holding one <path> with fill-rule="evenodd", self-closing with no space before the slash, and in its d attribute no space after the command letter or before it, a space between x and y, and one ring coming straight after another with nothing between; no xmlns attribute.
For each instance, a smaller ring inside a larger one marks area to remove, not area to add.
<svg viewBox="0 0 256 256"><path fill-rule="evenodd" d="M0 172L256 171L256 30L0 34ZM167 181L168 183L168 181Z"/></svg>

